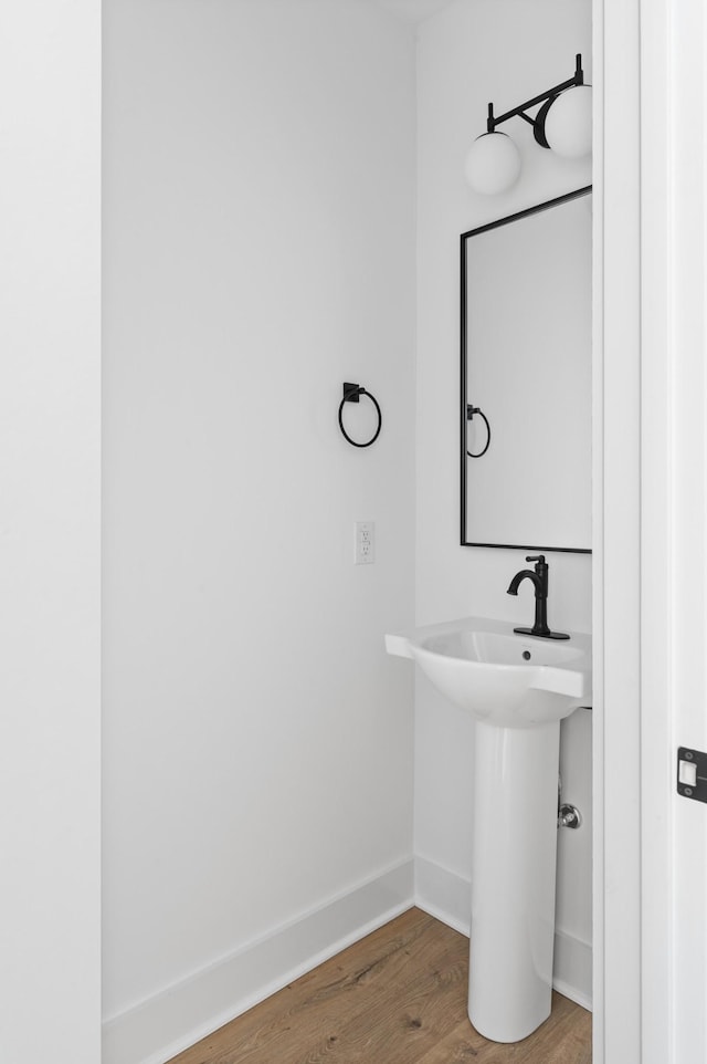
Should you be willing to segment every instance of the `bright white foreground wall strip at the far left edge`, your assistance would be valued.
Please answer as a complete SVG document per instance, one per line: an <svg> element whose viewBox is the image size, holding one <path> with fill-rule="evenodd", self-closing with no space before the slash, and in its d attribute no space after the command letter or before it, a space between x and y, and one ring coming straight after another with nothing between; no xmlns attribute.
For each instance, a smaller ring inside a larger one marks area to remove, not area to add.
<svg viewBox="0 0 707 1064"><path fill-rule="evenodd" d="M101 1054L101 18L0 9L0 1060Z"/></svg>

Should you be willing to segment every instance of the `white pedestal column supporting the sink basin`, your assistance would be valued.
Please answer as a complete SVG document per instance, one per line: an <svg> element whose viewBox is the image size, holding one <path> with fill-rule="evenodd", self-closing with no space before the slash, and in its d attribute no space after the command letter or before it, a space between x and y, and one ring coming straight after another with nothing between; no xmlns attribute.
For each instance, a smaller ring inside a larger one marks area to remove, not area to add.
<svg viewBox="0 0 707 1064"><path fill-rule="evenodd" d="M476 721L468 1015L518 1042L550 1015L559 721Z"/></svg>

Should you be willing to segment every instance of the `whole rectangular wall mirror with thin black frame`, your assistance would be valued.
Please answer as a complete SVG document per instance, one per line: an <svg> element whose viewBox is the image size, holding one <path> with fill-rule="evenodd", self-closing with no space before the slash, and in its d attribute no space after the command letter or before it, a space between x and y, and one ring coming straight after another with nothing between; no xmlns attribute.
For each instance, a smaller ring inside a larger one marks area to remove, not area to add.
<svg viewBox="0 0 707 1064"><path fill-rule="evenodd" d="M591 186L462 233L462 545L591 552Z"/></svg>

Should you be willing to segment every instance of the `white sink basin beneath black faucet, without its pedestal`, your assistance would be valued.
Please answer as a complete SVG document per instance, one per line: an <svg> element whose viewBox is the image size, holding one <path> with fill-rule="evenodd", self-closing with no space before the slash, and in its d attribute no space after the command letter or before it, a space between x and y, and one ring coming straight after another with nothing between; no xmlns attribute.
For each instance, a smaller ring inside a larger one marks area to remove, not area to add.
<svg viewBox="0 0 707 1064"><path fill-rule="evenodd" d="M513 624L464 617L386 636L450 701L478 720L532 728L591 705L591 637L562 644L517 635Z"/></svg>

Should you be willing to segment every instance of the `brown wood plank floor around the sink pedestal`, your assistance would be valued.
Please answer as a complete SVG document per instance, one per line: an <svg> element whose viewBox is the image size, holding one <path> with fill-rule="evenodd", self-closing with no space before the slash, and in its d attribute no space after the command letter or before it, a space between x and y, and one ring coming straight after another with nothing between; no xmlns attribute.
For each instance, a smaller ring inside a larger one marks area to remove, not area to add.
<svg viewBox="0 0 707 1064"><path fill-rule="evenodd" d="M514 1045L466 1016L468 939L410 909L170 1064L591 1064L591 1014L553 994Z"/></svg>

